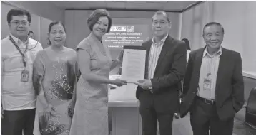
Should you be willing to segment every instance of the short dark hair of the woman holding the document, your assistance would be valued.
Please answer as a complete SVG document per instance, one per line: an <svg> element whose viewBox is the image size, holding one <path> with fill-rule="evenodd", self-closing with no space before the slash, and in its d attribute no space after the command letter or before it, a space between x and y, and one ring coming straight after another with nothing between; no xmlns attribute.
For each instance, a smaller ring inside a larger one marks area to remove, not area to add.
<svg viewBox="0 0 256 135"><path fill-rule="evenodd" d="M87 19L87 25L92 31L92 27L95 23L97 23L97 21L99 21L99 18L101 17L107 17L107 19L109 20L109 26L107 27L108 33L112 25L112 19L110 18L109 12L106 9L96 9L95 11L93 11Z"/></svg>

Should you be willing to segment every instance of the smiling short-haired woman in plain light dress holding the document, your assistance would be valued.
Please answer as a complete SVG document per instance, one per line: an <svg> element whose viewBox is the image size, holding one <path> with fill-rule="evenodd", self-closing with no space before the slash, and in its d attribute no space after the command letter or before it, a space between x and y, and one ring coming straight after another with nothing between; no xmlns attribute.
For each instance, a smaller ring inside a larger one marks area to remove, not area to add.
<svg viewBox="0 0 256 135"><path fill-rule="evenodd" d="M77 82L77 101L70 134L108 135L108 84L126 85L124 80L109 80L109 71L122 59L122 53L112 62L102 36L112 24L105 9L97 9L87 19L91 33L77 45L77 62L81 77Z"/></svg>

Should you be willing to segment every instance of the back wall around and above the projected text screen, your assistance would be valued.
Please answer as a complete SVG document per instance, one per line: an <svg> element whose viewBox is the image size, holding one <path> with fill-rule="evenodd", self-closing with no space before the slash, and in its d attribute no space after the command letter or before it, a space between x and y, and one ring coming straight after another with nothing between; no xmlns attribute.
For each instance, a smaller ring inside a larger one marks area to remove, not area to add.
<svg viewBox="0 0 256 135"><path fill-rule="evenodd" d="M78 43L87 37L90 33L87 28L87 18L92 11L85 10L66 10L65 11L65 26L67 28L67 41L66 45L69 48L77 47ZM154 12L146 11L109 11L113 18L112 23L125 23L125 24L147 24L151 28L152 15ZM169 31L170 35L174 38L179 38L179 14L168 13L172 21L172 29ZM125 18L125 21L124 21ZM151 33L152 34L152 33Z"/></svg>

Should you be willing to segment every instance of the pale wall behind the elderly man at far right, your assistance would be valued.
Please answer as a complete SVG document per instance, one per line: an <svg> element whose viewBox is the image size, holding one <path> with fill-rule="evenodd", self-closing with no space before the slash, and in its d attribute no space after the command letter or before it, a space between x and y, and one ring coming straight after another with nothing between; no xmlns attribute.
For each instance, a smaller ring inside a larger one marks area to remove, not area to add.
<svg viewBox="0 0 256 135"><path fill-rule="evenodd" d="M239 52L244 75L256 79L256 1L205 1L182 13L182 38L192 50L202 48L202 28L217 21L225 28L222 46Z"/></svg>

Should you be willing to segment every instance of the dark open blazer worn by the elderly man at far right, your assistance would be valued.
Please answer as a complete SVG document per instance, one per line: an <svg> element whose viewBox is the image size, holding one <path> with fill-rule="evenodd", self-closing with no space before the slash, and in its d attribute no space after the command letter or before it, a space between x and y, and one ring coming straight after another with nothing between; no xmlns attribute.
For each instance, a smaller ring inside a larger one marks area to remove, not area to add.
<svg viewBox="0 0 256 135"><path fill-rule="evenodd" d="M202 55L205 48L194 50L189 55L189 62L184 78L184 99L181 105L181 117L189 112L194 103L200 78ZM220 119L235 116L244 104L244 82L240 53L222 48L217 72L215 102Z"/></svg>

